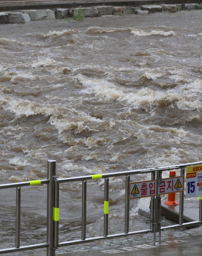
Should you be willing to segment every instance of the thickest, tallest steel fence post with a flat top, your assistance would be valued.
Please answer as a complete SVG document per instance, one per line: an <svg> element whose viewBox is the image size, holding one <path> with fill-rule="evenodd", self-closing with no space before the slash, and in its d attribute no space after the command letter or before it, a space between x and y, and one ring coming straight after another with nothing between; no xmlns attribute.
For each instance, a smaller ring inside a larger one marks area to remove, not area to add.
<svg viewBox="0 0 202 256"><path fill-rule="evenodd" d="M47 171L49 183L47 184L47 256L55 256L54 248L54 220L53 220L53 207L54 207L54 183L56 176L56 161L48 160Z"/></svg>

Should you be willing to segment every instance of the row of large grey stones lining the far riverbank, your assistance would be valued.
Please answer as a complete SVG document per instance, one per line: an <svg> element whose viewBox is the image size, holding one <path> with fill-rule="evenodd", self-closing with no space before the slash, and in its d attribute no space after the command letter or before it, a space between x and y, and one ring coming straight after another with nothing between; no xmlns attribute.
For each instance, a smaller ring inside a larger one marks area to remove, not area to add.
<svg viewBox="0 0 202 256"><path fill-rule="evenodd" d="M125 14L147 15L154 12L177 12L180 10L197 9L198 3L189 4L161 4L161 5L140 5L140 6L92 6L81 8L56 8L56 9L36 9L20 10L18 12L0 12L0 24L30 22L43 19L64 19L73 17L81 9L85 17L98 16L123 16Z"/></svg>

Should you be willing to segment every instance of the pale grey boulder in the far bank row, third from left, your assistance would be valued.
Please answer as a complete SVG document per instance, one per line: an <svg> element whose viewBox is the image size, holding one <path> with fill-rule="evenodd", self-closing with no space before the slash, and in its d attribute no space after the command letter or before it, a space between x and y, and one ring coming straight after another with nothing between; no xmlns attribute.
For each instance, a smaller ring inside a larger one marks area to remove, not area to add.
<svg viewBox="0 0 202 256"><path fill-rule="evenodd" d="M27 13L30 16L31 21L37 21L41 19L55 19L54 11L50 9L46 10L23 10L23 13Z"/></svg>

